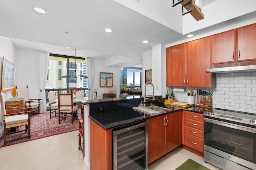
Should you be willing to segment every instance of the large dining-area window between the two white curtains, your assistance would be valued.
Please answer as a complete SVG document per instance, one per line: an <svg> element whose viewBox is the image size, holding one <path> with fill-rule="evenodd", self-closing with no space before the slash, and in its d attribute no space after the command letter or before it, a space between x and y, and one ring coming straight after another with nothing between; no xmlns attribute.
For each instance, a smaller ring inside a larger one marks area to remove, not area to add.
<svg viewBox="0 0 256 170"><path fill-rule="evenodd" d="M50 54L48 81L46 82L46 89L52 88L87 88L87 78L74 78L76 74L86 76L85 59L81 57L64 56ZM64 75L70 75L69 78L61 78Z"/></svg>

